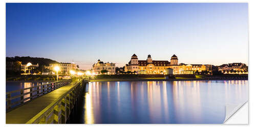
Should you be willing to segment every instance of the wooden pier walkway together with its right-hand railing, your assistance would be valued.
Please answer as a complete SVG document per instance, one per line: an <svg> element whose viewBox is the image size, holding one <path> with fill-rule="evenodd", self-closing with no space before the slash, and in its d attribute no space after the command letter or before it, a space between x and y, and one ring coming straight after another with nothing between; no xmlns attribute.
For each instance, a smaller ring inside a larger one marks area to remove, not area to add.
<svg viewBox="0 0 256 128"><path fill-rule="evenodd" d="M7 111L6 123L66 123L86 82L88 79L73 79L65 86Z"/></svg>

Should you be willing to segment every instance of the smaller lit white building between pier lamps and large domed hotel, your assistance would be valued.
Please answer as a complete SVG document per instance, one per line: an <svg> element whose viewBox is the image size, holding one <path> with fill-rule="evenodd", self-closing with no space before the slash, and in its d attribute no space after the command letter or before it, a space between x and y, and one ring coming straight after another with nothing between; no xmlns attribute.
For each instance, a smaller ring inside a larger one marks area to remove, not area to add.
<svg viewBox="0 0 256 128"><path fill-rule="evenodd" d="M104 63L103 61L100 61L100 59L98 59L98 62L93 64L92 70L93 74L95 75L102 74L102 70L108 71L106 74L115 74L116 64L112 62Z"/></svg>

